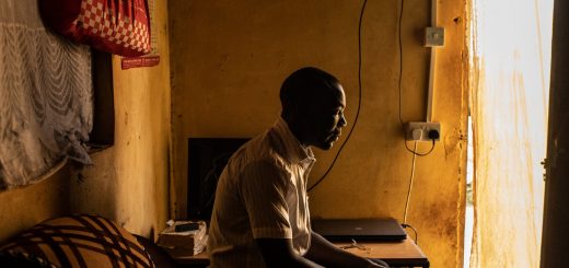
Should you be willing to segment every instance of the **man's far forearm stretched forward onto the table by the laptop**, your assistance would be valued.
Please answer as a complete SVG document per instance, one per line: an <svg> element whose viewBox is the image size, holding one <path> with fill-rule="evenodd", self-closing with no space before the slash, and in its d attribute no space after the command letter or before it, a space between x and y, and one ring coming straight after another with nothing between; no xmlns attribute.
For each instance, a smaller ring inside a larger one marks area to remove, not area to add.
<svg viewBox="0 0 569 268"><path fill-rule="evenodd" d="M311 233L311 246L304 257L326 267L384 267L338 248L315 232Z"/></svg>

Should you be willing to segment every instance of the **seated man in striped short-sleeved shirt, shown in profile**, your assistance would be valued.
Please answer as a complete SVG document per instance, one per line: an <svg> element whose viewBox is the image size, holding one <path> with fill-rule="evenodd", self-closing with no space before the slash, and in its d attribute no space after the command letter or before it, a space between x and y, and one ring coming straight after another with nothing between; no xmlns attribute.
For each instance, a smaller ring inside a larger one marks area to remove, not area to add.
<svg viewBox="0 0 569 268"><path fill-rule="evenodd" d="M280 89L277 123L230 159L209 230L211 267L386 267L339 249L310 226L311 147L338 140L346 96L338 80L303 68Z"/></svg>

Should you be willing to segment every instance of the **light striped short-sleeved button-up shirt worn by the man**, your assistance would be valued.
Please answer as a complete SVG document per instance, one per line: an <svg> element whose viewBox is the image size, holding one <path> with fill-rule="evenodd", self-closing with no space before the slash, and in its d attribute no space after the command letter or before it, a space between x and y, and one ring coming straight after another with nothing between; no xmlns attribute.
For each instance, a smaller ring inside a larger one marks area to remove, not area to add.
<svg viewBox="0 0 569 268"><path fill-rule="evenodd" d="M314 161L281 118L233 154L216 191L211 267L265 267L255 238L291 238L299 255L306 253L306 182Z"/></svg>

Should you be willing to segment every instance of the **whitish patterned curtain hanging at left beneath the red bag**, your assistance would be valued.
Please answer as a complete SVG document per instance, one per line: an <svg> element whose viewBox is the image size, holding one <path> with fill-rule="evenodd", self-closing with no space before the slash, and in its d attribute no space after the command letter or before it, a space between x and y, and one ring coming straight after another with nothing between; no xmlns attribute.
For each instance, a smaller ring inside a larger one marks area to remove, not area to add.
<svg viewBox="0 0 569 268"><path fill-rule="evenodd" d="M47 31L37 0L0 1L0 189L90 163L91 54Z"/></svg>

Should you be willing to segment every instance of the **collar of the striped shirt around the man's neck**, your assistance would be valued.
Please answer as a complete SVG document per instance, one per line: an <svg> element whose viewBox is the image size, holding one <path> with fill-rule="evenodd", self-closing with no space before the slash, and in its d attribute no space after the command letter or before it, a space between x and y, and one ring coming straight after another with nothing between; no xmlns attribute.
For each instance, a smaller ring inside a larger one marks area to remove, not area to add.
<svg viewBox="0 0 569 268"><path fill-rule="evenodd" d="M284 153L288 154L291 161L294 163L316 161L312 149L300 143L299 139L297 139L294 133L292 133L284 119L279 117L272 129L275 129L276 133L282 139L282 142L284 143Z"/></svg>

